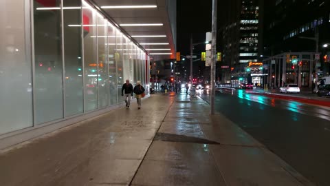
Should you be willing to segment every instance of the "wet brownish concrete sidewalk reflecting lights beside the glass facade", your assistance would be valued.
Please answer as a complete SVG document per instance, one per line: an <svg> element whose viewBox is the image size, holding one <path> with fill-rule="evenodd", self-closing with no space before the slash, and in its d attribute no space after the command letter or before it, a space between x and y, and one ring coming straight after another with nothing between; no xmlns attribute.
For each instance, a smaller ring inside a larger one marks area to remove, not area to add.
<svg viewBox="0 0 330 186"><path fill-rule="evenodd" d="M153 94L0 154L0 185L312 185L210 106Z"/></svg>

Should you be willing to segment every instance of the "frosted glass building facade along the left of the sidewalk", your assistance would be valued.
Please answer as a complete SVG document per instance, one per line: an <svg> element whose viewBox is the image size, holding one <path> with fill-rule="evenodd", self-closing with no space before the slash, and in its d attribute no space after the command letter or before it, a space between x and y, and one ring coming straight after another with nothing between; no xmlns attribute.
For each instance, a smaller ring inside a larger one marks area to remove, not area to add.
<svg viewBox="0 0 330 186"><path fill-rule="evenodd" d="M150 61L81 0L0 2L0 137L123 102Z"/></svg>

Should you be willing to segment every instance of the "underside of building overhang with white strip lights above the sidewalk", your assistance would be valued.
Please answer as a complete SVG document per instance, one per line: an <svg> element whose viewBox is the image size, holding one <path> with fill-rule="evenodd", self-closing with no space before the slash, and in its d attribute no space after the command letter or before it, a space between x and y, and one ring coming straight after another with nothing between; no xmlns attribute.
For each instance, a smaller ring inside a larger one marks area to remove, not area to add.
<svg viewBox="0 0 330 186"><path fill-rule="evenodd" d="M93 3L153 60L175 58L175 33L166 0L94 0Z"/></svg>

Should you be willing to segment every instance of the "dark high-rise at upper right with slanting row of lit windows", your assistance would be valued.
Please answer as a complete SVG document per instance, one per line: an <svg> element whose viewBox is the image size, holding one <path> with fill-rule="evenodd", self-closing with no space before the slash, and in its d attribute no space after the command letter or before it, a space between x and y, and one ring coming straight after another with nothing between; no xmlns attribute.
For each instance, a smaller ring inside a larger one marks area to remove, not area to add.
<svg viewBox="0 0 330 186"><path fill-rule="evenodd" d="M329 59L323 57L330 50L323 45L330 43L330 1L270 0L265 10L265 55L320 52L319 75L329 74Z"/></svg>

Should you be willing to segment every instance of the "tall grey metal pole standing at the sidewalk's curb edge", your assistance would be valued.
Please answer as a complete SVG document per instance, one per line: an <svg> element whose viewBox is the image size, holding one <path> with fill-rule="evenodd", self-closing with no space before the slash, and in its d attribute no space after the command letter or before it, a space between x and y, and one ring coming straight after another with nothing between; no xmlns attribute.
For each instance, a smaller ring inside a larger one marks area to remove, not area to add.
<svg viewBox="0 0 330 186"><path fill-rule="evenodd" d="M214 96L215 96L215 54L217 52L217 0L212 0L212 50L211 50L211 96L210 96L210 114L214 114Z"/></svg>

